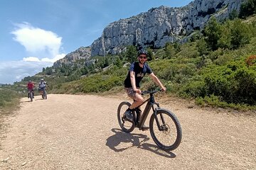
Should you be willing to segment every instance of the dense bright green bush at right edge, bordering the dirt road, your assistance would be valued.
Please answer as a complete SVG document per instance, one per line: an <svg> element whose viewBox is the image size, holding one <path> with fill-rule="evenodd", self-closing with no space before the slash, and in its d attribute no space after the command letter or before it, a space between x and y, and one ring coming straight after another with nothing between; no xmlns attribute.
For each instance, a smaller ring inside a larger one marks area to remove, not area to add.
<svg viewBox="0 0 256 170"><path fill-rule="evenodd" d="M226 103L256 104L256 72L242 62L230 62L224 66L208 67L201 72L200 81L190 81L181 93L193 97L218 96Z"/></svg>

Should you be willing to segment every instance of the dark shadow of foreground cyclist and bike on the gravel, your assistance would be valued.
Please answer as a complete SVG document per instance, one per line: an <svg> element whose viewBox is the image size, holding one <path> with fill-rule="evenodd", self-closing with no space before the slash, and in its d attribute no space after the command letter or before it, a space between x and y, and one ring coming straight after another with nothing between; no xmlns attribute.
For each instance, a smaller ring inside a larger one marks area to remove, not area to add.
<svg viewBox="0 0 256 170"><path fill-rule="evenodd" d="M116 128L113 128L112 132L114 132L114 135L107 138L106 145L115 152L123 152L124 150L129 149L130 147L137 147L139 149L145 149L150 152L154 152L155 154L159 154L163 157L176 157L176 154L172 152L164 151L162 149L159 149L159 147L157 147L156 145L146 143L146 141L149 140L149 137L147 137L146 135L126 133ZM119 148L118 145L120 145L122 142L131 143L132 145L129 147Z"/></svg>

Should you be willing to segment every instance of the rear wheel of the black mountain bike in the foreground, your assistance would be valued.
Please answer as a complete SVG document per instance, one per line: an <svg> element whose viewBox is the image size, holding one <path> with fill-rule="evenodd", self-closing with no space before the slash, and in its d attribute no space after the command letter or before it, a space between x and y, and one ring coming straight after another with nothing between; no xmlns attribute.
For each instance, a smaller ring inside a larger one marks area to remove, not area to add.
<svg viewBox="0 0 256 170"><path fill-rule="evenodd" d="M119 126L120 128L122 128L124 132L127 132L127 133L132 132L132 130L134 130L135 128L134 122L131 123L128 120L125 120L124 112L127 110L127 108L129 108L129 106L131 106L131 103L127 101L123 101L122 103L119 104L117 108L117 120L118 120Z"/></svg>

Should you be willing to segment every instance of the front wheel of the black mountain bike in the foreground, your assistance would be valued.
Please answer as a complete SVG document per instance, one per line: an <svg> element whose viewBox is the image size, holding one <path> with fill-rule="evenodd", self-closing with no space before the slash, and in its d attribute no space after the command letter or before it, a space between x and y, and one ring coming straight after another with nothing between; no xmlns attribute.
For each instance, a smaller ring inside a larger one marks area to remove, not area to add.
<svg viewBox="0 0 256 170"><path fill-rule="evenodd" d="M164 118L165 124L161 120L161 115L163 115L162 117ZM166 151L176 149L181 144L182 139L181 124L178 118L176 118L174 113L163 108L156 111L156 116L160 126L165 127L166 130L159 130L155 115L152 114L149 120L149 130L154 142L157 146ZM164 140L160 139L160 137L163 137Z"/></svg>

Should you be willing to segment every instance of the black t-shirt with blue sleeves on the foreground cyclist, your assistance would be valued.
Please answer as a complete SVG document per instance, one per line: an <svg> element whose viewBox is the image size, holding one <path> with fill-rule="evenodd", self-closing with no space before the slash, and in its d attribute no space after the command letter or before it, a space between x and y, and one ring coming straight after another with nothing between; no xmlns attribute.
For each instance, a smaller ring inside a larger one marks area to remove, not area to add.
<svg viewBox="0 0 256 170"><path fill-rule="evenodd" d="M135 82L136 86L139 87L139 82L142 81L142 78L146 73L151 74L152 70L147 63L143 64L143 68L139 67L139 62L133 62L127 74L127 78L124 80L124 87L132 87L130 72L135 72Z"/></svg>

